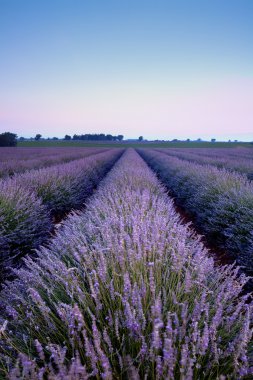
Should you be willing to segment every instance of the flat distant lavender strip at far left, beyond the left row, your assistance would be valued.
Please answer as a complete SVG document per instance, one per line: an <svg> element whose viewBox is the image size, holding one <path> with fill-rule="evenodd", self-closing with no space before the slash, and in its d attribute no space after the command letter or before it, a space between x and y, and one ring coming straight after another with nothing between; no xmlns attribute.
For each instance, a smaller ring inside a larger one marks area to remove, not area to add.
<svg viewBox="0 0 253 380"><path fill-rule="evenodd" d="M39 169L91 156L108 149L98 148L0 148L0 177Z"/></svg>

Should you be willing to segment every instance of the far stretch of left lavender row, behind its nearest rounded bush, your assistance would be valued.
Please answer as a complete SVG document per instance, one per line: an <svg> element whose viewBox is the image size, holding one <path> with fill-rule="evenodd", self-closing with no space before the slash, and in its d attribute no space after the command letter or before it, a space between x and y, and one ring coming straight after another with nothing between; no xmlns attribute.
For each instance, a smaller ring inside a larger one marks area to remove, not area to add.
<svg viewBox="0 0 253 380"><path fill-rule="evenodd" d="M9 183L34 192L51 215L62 216L83 203L122 152L122 149L110 149L66 164L30 170L13 176Z"/></svg>

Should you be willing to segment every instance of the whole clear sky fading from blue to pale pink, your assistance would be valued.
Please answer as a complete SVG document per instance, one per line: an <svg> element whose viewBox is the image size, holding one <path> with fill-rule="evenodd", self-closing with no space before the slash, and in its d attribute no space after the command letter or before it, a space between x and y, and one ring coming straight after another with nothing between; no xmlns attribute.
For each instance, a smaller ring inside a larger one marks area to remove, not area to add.
<svg viewBox="0 0 253 380"><path fill-rule="evenodd" d="M252 0L0 0L0 132L253 140Z"/></svg>

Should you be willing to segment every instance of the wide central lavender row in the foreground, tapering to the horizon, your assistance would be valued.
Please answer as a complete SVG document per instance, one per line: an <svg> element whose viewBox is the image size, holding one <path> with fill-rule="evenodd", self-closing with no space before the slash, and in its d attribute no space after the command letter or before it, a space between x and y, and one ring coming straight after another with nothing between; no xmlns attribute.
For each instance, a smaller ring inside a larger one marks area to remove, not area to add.
<svg viewBox="0 0 253 380"><path fill-rule="evenodd" d="M1 293L2 375L242 379L253 373L246 282L216 268L155 174L127 150L83 212Z"/></svg>

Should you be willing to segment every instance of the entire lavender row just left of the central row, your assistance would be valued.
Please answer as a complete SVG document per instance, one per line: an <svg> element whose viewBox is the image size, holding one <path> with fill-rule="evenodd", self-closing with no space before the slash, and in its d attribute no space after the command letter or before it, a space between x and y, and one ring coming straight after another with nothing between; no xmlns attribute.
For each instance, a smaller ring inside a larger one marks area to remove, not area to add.
<svg viewBox="0 0 253 380"><path fill-rule="evenodd" d="M79 208L123 150L108 150L0 181L0 269L49 236L54 219Z"/></svg>

